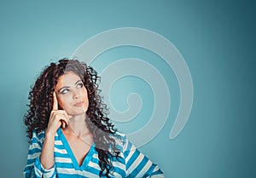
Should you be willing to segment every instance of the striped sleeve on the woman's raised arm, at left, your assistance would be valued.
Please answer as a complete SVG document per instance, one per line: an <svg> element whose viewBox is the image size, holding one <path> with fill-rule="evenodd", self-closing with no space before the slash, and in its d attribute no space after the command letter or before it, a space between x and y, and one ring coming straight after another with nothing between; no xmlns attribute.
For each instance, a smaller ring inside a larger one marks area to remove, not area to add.
<svg viewBox="0 0 256 178"><path fill-rule="evenodd" d="M50 169L44 169L40 162L40 155L44 144L44 132L39 134L33 131L32 140L30 141L26 168L23 175L26 178L53 178L56 177L55 165Z"/></svg>

